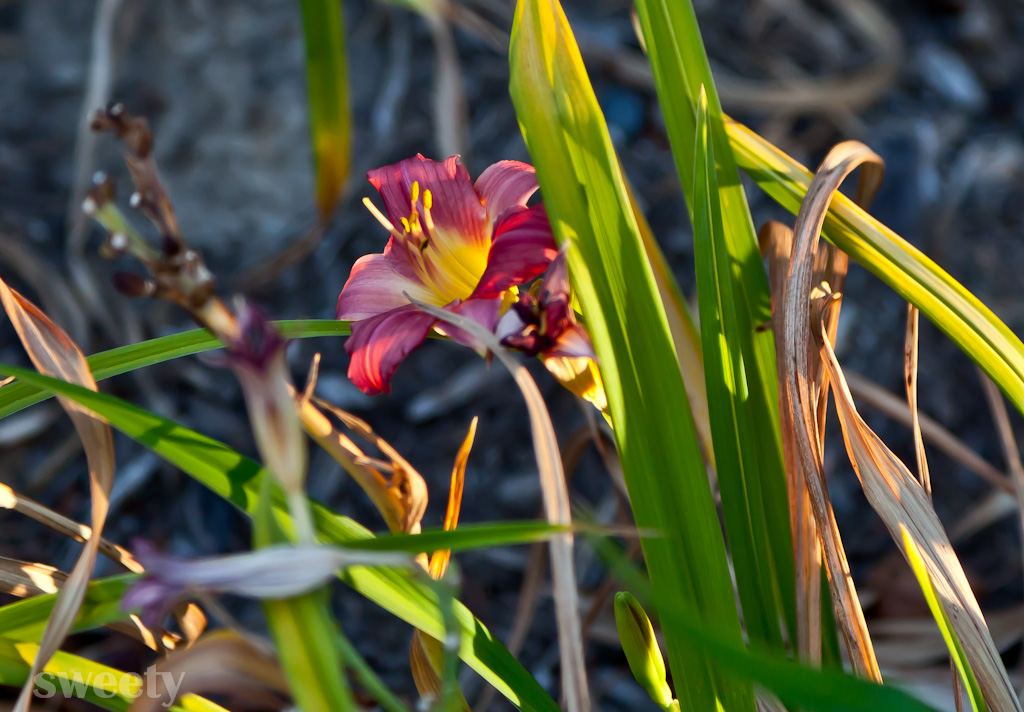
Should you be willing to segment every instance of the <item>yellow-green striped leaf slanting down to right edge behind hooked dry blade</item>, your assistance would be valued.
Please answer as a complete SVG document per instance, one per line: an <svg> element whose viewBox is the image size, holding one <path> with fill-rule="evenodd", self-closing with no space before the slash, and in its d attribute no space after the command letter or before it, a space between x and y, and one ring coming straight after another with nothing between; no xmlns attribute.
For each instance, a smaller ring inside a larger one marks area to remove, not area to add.
<svg viewBox="0 0 1024 712"><path fill-rule="evenodd" d="M796 214L810 171L741 124L730 122L728 132L739 167ZM833 198L823 235L921 309L1024 413L1024 343L976 296L843 194Z"/></svg>

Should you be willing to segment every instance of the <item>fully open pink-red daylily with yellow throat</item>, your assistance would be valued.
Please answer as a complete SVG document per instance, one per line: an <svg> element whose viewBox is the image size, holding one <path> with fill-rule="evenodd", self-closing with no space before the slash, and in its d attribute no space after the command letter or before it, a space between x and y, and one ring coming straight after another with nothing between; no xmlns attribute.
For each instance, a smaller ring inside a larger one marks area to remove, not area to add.
<svg viewBox="0 0 1024 712"><path fill-rule="evenodd" d="M417 155L367 178L387 215L369 199L364 203L391 238L383 253L352 266L338 319L353 322L345 343L348 377L373 395L390 390L398 364L431 329L476 347L468 334L441 326L410 298L494 330L509 290L541 275L557 248L544 207L526 205L538 184L524 163L496 163L474 184L459 157Z"/></svg>

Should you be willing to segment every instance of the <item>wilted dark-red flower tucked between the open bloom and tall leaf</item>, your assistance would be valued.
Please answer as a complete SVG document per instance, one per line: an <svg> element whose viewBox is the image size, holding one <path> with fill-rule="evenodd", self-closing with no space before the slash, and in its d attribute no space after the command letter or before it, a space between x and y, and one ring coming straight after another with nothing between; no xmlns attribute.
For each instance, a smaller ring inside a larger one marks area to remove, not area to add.
<svg viewBox="0 0 1024 712"><path fill-rule="evenodd" d="M502 345L536 355L563 386L600 411L608 407L590 336L575 319L565 250L498 325Z"/></svg>

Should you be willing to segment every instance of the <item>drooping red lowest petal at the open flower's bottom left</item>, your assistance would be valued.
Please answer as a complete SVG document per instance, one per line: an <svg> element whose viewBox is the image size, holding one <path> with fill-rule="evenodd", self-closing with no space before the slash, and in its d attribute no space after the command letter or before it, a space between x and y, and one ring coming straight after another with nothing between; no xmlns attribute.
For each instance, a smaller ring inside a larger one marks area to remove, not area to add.
<svg viewBox="0 0 1024 712"><path fill-rule="evenodd" d="M391 392L391 376L398 364L423 343L437 320L407 304L352 324L345 341L351 357L348 379L368 395Z"/></svg>

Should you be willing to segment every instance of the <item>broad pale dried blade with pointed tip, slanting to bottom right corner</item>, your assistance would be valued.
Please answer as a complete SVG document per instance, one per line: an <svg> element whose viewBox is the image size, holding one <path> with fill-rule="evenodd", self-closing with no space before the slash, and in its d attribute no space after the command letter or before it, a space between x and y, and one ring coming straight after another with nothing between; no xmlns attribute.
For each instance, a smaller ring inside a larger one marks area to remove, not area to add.
<svg viewBox="0 0 1024 712"><path fill-rule="evenodd" d="M821 300L821 308L827 308L827 298ZM867 501L882 517L904 558L910 558L904 536L915 547L986 703L996 710L1020 710L985 618L928 495L861 419L831 344L823 331L818 336L831 376L847 453Z"/></svg>

